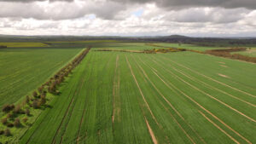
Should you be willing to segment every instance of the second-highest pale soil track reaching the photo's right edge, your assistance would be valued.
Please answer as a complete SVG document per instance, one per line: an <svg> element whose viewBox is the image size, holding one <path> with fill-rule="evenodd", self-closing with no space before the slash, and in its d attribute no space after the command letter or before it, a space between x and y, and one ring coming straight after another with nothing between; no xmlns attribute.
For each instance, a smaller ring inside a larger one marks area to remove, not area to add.
<svg viewBox="0 0 256 144"><path fill-rule="evenodd" d="M183 76L185 76L185 77L187 77L187 78L189 78L189 79L191 79L191 80L198 81L198 82L200 82L201 84L207 85L208 88L212 88L212 89L218 90L219 92L221 92L221 93L223 93L223 94L225 94L225 95L229 95L230 97L232 97L232 98L234 98L234 99L236 99L236 100L245 102L245 103L247 103L248 105L250 105L250 106L252 106L252 107L256 107L255 105L253 105L252 103L250 103L250 102L248 102L248 101L241 100L240 98L238 98L238 97L236 97L236 96L234 96L234 95L230 95L229 93L227 93L227 92L225 92L225 91L223 91L223 90L221 90L221 89L215 88L215 87L213 87L212 85L207 84L207 83L205 83L205 82L203 82L203 81L201 81L201 80L199 80L199 79L197 79L197 78L195 78L195 77L189 76L189 75L183 73L183 71L177 70L177 68L175 68L175 67L173 67L173 66L172 66L172 69L175 70L176 72L179 72L179 73L183 74Z"/></svg>

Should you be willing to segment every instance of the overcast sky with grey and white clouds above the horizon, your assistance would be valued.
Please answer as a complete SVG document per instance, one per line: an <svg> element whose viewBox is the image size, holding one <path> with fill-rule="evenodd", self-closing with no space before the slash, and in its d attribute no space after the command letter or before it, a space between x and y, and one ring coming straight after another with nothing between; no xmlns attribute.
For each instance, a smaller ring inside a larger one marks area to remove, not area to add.
<svg viewBox="0 0 256 144"><path fill-rule="evenodd" d="M0 34L256 37L256 0L0 0Z"/></svg>

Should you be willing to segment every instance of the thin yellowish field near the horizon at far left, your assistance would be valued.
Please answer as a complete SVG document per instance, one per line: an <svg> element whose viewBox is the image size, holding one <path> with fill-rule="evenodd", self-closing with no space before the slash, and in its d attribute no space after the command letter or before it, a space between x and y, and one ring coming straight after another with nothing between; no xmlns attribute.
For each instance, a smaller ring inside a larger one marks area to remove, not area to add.
<svg viewBox="0 0 256 144"><path fill-rule="evenodd" d="M23 48L27 48L27 47L47 47L48 45L45 43L32 43L32 42L8 42L8 43L1 43L0 45L4 45L7 47L23 47Z"/></svg>

